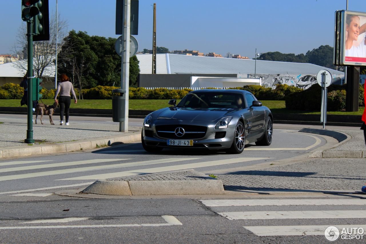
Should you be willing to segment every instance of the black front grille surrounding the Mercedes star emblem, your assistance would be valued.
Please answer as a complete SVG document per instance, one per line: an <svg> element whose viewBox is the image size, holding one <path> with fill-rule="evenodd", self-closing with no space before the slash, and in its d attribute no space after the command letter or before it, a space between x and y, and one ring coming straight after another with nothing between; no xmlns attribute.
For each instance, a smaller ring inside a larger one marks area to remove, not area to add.
<svg viewBox="0 0 366 244"><path fill-rule="evenodd" d="M175 134L175 129L177 127L182 127L185 131L183 136L177 136ZM157 125L155 126L156 133L159 137L167 138L167 139L198 139L205 136L207 132L206 126L198 126L198 125ZM193 133L189 133L193 132Z"/></svg>

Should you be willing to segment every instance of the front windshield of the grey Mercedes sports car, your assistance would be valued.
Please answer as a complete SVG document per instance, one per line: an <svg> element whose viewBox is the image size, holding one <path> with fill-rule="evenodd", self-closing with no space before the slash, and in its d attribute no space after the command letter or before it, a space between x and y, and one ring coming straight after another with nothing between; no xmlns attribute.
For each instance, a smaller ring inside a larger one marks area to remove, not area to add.
<svg viewBox="0 0 366 244"><path fill-rule="evenodd" d="M193 92L178 103L184 108L244 108L244 98L240 93Z"/></svg>

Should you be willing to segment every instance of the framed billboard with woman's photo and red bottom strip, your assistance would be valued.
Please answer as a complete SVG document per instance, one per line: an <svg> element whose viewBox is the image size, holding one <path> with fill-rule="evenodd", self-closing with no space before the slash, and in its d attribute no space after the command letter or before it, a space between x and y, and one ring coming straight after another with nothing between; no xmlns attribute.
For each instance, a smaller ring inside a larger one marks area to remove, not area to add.
<svg viewBox="0 0 366 244"><path fill-rule="evenodd" d="M335 12L334 65L366 66L365 31L365 12Z"/></svg>

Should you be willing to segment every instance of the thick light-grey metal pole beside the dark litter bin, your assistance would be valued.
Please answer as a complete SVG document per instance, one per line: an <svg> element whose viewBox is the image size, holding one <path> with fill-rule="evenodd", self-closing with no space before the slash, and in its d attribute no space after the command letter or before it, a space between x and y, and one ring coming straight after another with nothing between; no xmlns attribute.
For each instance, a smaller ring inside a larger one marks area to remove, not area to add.
<svg viewBox="0 0 366 244"><path fill-rule="evenodd" d="M123 51L122 51L122 76L121 88L126 90L123 97L126 99L124 109L124 121L119 123L120 132L128 132L128 85L130 76L130 8L131 0L123 0L124 19L123 19Z"/></svg>

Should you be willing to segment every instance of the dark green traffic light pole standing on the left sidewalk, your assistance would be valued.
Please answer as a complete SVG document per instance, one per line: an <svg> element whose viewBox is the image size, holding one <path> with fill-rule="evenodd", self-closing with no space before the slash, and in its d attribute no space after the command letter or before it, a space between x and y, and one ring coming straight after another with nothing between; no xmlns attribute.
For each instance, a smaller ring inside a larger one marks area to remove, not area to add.
<svg viewBox="0 0 366 244"><path fill-rule="evenodd" d="M37 16L36 16L37 17ZM36 18L35 17L35 18ZM27 97L27 138L25 143L34 143L33 139L33 101L32 101L32 81L33 81L33 20L27 21L28 39L28 97Z"/></svg>

